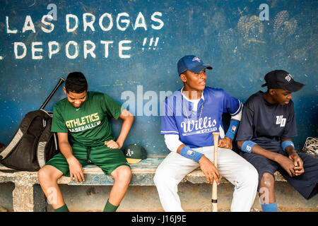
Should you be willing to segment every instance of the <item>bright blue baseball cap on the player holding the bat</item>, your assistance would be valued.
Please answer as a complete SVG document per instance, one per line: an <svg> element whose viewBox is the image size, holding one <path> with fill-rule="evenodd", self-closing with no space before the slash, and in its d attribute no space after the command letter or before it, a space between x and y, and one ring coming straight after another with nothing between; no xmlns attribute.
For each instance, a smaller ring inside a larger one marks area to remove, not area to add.
<svg viewBox="0 0 318 226"><path fill-rule="evenodd" d="M204 69L212 69L210 65L204 64L204 62L199 57L196 57L194 55L187 55L179 59L177 67L179 75L187 70L194 73L199 73Z"/></svg>

